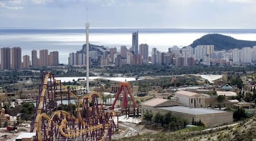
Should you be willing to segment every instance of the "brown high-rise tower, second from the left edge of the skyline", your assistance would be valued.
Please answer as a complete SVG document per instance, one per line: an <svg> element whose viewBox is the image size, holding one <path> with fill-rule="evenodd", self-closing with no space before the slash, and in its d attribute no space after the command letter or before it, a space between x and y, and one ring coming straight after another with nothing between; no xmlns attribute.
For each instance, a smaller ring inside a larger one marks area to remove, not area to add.
<svg viewBox="0 0 256 141"><path fill-rule="evenodd" d="M22 55L20 47L13 47L12 48L12 70L20 70L21 63L22 63Z"/></svg>

